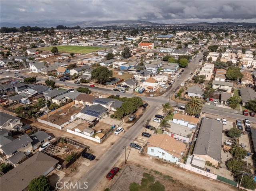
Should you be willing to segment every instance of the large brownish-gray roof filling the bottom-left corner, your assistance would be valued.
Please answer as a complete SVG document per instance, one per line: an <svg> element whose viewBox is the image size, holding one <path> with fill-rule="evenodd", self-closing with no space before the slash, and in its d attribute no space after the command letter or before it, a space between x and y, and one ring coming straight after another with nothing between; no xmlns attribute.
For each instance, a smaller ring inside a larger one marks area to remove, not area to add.
<svg viewBox="0 0 256 191"><path fill-rule="evenodd" d="M44 175L57 163L57 159L37 152L34 156L2 175L0 188L4 191L25 190L32 179Z"/></svg>

